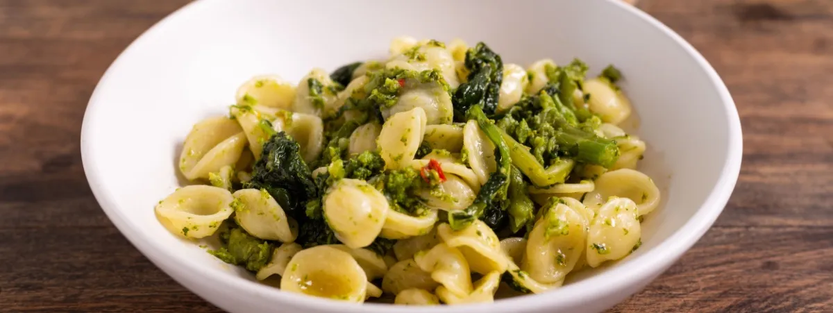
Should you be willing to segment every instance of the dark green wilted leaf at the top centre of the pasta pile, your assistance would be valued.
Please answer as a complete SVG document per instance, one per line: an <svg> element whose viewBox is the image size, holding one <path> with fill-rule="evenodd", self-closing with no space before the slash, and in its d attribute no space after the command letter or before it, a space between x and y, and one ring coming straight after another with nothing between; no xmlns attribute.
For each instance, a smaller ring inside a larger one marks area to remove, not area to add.
<svg viewBox="0 0 833 313"><path fill-rule="evenodd" d="M452 98L455 120L465 121L466 112L475 105L480 105L486 114L493 114L503 82L501 56L492 52L486 43L478 42L466 52L464 65L469 75L468 81L457 87Z"/></svg>

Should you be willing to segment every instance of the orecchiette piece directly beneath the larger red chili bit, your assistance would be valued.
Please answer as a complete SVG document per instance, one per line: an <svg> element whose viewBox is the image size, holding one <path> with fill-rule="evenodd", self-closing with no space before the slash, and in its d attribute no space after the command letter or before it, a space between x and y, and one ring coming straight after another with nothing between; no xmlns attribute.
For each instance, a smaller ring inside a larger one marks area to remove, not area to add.
<svg viewBox="0 0 833 313"><path fill-rule="evenodd" d="M419 196L428 207L443 211L457 211L471 206L477 194L459 176L446 174L446 181L436 187L422 189Z"/></svg>

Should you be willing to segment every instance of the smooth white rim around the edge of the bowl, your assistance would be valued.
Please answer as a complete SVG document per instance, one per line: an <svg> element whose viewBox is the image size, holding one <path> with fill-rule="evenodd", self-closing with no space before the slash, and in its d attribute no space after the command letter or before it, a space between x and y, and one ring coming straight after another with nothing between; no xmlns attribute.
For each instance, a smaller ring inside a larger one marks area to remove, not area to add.
<svg viewBox="0 0 833 313"><path fill-rule="evenodd" d="M297 295L290 292L283 292L272 286L266 286L256 281L249 281L246 279L239 279L239 277L229 276L228 273L210 269L207 267L190 266L187 258L176 253L171 253L161 247L154 245L152 240L147 236L142 236L138 231L132 229L127 222L127 216L124 216L121 211L117 210L114 196L102 185L101 172L95 166L97 160L95 155L90 151L94 149L94 143L89 140L89 134L96 132L96 125L92 122L96 116L97 107L102 104L98 100L102 89L107 86L109 78L113 72L122 67L126 56L131 55L132 51L141 42L151 37L151 34L159 32L159 30L169 23L172 19L182 16L184 12L193 11L195 7L207 5L209 1L190 2L177 11L164 17L161 21L149 27L139 37L137 37L130 45L127 46L112 62L107 71L104 72L102 78L97 82L95 90L92 92L87 109L84 112L81 132L81 154L82 164L84 167L87 181L92 190L93 196L96 197L98 204L102 207L102 211L112 221L113 225L132 243L139 251L142 252L148 260L152 261L154 265L166 272L168 276L172 276L182 286L185 286L190 291L202 297L204 300L212 302L217 305L212 299L208 299L199 293L193 291L191 287L186 286L176 276L172 275L171 271L190 271L192 276L198 275L207 284L222 284L229 286L234 290L247 292L252 295L262 295L275 298L277 301L295 303L297 306L304 306L308 310L322 310L322 311L342 311L342 312L467 312L471 310L486 310L486 311L513 311L517 309L543 309L552 306L556 301L564 301L562 304L574 303L581 304L587 301L593 301L597 295L611 295L617 291L624 290L626 286L635 284L646 279L653 280L652 275L656 274L656 268L666 269L679 259L688 249L691 248L697 241L700 240L706 231L720 216L721 212L726 206L726 203L731 196L732 191L736 185L736 181L741 169L741 157L743 152L743 140L741 131L740 117L737 112L736 104L729 93L728 88L717 74L711 64L706 61L705 57L697 52L689 42L686 42L679 34L671 30L662 22L651 17L646 12L642 12L636 7L632 7L621 1L607 0L610 5L624 10L625 14L633 14L642 22L647 22L651 27L661 30L667 37L676 42L683 50L694 58L695 62L706 72L710 78L712 87L716 89L721 102L723 104L726 117L728 117L728 152L726 161L721 169L721 176L706 200L697 209L691 218L681 226L678 230L666 237L660 242L658 246L647 251L641 256L636 256L630 262L619 264L611 268L604 274L589 277L583 281L562 286L558 289L559 296L553 297L547 295L548 293L537 295L526 295L501 299L494 303L487 304L471 304L462 306L432 306L432 307L412 307L412 306L390 306L387 304L366 303L362 306L355 304L348 304L342 301L334 301L329 299L314 298L311 296ZM582 292L584 287L592 286L595 290L593 293Z"/></svg>

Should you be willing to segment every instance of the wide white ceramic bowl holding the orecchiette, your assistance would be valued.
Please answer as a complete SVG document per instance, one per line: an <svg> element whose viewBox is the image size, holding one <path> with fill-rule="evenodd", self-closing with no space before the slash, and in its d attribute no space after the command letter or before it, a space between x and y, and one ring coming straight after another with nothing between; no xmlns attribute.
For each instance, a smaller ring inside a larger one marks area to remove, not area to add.
<svg viewBox="0 0 833 313"><path fill-rule="evenodd" d="M593 74L619 67L649 147L641 170L665 202L648 216L641 249L546 294L476 306L358 306L257 283L157 221L153 206L179 186L183 138L202 118L226 114L238 85L262 73L296 81L312 67L384 56L401 35L484 41L505 62L581 57ZM113 62L82 129L84 170L113 224L183 286L249 313L602 311L640 291L708 230L735 186L741 150L734 102L708 62L644 12L606 0L193 2Z"/></svg>

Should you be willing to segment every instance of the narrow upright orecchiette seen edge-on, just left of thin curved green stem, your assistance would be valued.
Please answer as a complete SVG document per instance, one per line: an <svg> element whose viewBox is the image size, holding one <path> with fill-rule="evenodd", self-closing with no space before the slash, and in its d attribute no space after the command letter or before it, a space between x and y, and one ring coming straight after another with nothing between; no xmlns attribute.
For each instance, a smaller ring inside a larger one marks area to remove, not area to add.
<svg viewBox="0 0 833 313"><path fill-rule="evenodd" d="M463 148L468 152L469 167L474 171L480 185L485 184L489 174L497 168L495 145L474 120L466 122L466 127L463 127Z"/></svg>

